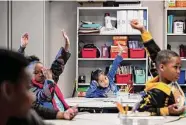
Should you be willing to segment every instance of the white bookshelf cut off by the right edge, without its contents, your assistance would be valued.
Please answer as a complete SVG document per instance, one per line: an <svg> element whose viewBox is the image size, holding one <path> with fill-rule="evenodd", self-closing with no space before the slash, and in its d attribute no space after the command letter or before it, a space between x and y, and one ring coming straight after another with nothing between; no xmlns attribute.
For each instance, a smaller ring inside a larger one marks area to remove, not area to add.
<svg viewBox="0 0 186 125"><path fill-rule="evenodd" d="M173 15L173 19L170 19L170 15ZM171 21L172 20L172 21ZM177 20L183 20L185 23L186 21L186 8L179 8L168 7L167 3L165 3L165 44L164 49L167 49L168 44L171 45L171 50L180 54L179 46L181 44L186 45L186 29L183 33L175 33L174 31L174 22ZM172 28L170 28L172 25ZM186 57L181 58L182 61L182 70L186 69ZM186 74L185 74L186 75ZM180 86L184 87L185 91L185 84L180 84Z"/></svg>

